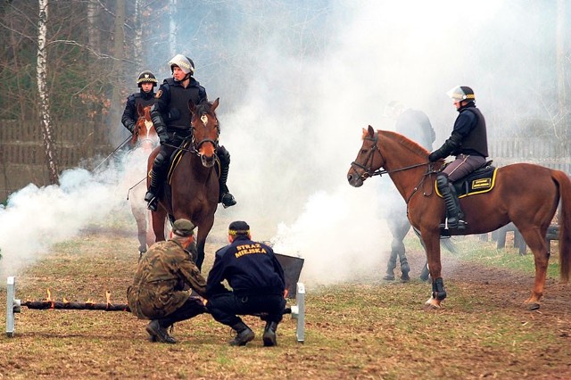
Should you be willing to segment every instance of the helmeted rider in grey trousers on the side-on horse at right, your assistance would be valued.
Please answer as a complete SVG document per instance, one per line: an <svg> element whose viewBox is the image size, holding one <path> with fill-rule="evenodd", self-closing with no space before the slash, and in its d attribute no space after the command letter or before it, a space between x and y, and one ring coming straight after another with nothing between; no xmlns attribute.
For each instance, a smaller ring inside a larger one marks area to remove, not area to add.
<svg viewBox="0 0 571 380"><path fill-rule="evenodd" d="M463 212L460 210L458 194L452 182L467 176L472 171L482 167L488 156L488 140L485 120L482 112L476 108L476 96L470 87L458 86L452 88L449 95L459 112L450 138L428 156L428 161L434 162L456 155L456 160L438 173L436 186L443 195L448 215L447 223L441 227L466 227Z"/></svg>

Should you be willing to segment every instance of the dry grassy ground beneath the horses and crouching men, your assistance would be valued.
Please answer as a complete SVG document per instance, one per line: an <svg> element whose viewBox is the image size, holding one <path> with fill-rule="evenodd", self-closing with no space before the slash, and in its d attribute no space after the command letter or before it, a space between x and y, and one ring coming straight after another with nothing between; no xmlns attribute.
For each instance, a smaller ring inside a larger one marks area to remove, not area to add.
<svg viewBox="0 0 571 380"><path fill-rule="evenodd" d="M137 265L133 236L95 227L54 246L18 275L17 298L44 299L49 288L56 300L104 302L111 291L112 302L125 303ZM223 241L212 239L206 270ZM358 283L306 285L303 344L287 316L277 347L262 346L263 323L248 317L258 336L229 347L228 327L208 315L179 323L173 335L180 343L168 345L147 342L146 321L127 312L22 308L15 335L0 337L0 378L571 378L571 293L558 283L556 264L542 309L526 311L531 255L498 251L476 236L456 242L461 253L443 257L449 298L441 310L424 307L430 285L416 279L424 258L411 237L415 279L408 284L381 281L379 268ZM3 288L4 305L5 297Z"/></svg>

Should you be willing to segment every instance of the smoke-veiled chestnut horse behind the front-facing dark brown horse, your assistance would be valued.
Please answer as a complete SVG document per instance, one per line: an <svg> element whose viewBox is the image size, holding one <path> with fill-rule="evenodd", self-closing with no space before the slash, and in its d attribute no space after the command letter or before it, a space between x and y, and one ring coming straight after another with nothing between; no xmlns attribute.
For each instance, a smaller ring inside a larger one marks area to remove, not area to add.
<svg viewBox="0 0 571 380"><path fill-rule="evenodd" d="M137 106L137 114L137 123L135 124L133 136L131 137L131 146L133 146L134 149L130 155L130 159L132 160L129 160L132 166L136 167L128 168L128 170L130 170L129 174L138 180L145 178L145 161L149 154L153 152L153 149L159 145L159 136L157 136L157 132L154 130L153 120L151 119L151 106L147 105L143 107L139 104ZM139 165L141 166L139 167ZM150 224L151 215L143 201L143 198L145 198L145 186L137 183L132 190L133 194L129 196L128 200L133 217L137 222L139 253L143 254L146 252L147 246L154 243L153 230L147 227L147 224Z"/></svg>

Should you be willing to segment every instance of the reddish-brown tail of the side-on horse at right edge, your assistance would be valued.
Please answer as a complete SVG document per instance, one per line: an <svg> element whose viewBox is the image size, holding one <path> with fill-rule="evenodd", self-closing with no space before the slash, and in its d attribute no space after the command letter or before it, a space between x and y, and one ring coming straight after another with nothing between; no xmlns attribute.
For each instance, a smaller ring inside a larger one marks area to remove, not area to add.
<svg viewBox="0 0 571 380"><path fill-rule="evenodd" d="M561 279L567 283L571 275L571 179L560 170L553 170L551 178L559 186L559 266Z"/></svg>

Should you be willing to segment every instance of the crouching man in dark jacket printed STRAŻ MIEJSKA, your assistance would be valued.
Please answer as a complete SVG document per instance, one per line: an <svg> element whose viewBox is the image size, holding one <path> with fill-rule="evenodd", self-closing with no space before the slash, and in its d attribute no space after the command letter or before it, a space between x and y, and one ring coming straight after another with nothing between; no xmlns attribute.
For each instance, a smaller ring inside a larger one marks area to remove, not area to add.
<svg viewBox="0 0 571 380"><path fill-rule="evenodd" d="M244 221L230 223L228 242L216 252L208 275L208 311L214 319L236 331L236 337L229 342L233 346L243 346L255 336L236 314L263 315L264 346L274 346L277 324L285 308L284 269L268 245L252 241L250 226ZM224 280L232 292L222 285Z"/></svg>

